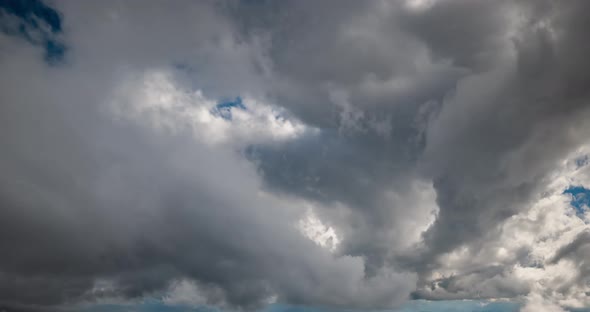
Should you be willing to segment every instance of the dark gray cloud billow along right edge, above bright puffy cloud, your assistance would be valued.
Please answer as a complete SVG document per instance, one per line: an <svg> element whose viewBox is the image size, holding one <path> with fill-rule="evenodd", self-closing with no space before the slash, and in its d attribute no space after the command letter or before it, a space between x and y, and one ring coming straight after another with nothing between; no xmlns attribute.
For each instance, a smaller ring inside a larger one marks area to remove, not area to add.
<svg viewBox="0 0 590 312"><path fill-rule="evenodd" d="M440 213L426 240L439 251L480 237L526 208L556 162L585 142L582 133L568 134L588 114L581 90L568 91L578 83L574 71L586 68L585 60L578 59L578 69L569 68L572 56L564 47L571 39L552 35L578 31L575 22L559 22L582 18L563 16L573 9L565 6L525 15L513 39L515 59L462 81L431 125L426 158L434 169Z"/></svg>

